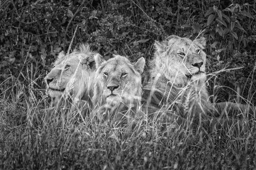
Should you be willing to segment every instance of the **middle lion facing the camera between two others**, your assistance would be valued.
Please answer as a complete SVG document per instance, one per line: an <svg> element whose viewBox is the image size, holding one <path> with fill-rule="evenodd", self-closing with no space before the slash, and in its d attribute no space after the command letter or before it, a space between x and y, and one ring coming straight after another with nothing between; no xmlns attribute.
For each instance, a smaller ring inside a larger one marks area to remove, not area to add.
<svg viewBox="0 0 256 170"><path fill-rule="evenodd" d="M114 55L109 60L96 56L96 74L94 86L94 105L100 106L100 112L127 116L127 111L136 113L140 106L142 85L141 74L145 59L139 58L131 63L124 56ZM109 118L109 115L108 115ZM120 118L118 118L120 119Z"/></svg>

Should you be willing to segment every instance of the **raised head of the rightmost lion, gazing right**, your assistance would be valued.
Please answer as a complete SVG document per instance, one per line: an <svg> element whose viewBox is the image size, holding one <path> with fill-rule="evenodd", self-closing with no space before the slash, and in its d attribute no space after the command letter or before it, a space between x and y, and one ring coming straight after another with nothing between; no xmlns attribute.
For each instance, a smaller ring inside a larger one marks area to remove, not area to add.
<svg viewBox="0 0 256 170"><path fill-rule="evenodd" d="M156 41L154 45L153 72L164 74L171 82L206 81L204 37L192 41L172 35L162 42Z"/></svg>

